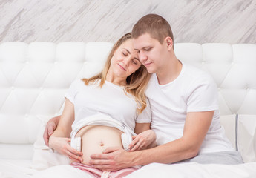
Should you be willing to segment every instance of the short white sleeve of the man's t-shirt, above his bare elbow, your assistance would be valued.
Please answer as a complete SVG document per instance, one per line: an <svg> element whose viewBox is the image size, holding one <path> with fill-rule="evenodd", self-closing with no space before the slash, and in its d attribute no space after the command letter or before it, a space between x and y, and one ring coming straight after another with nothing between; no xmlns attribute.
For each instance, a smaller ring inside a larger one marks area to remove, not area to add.
<svg viewBox="0 0 256 178"><path fill-rule="evenodd" d="M199 79L191 82L188 88L187 112L214 111L218 110L217 85L211 76L205 73Z"/></svg>

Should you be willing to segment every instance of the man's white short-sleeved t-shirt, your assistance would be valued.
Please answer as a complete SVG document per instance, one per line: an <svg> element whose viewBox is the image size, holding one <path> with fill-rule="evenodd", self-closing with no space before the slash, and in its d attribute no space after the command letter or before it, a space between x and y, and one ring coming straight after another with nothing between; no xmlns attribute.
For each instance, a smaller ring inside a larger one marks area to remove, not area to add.
<svg viewBox="0 0 256 178"><path fill-rule="evenodd" d="M151 104L151 129L157 134L157 145L183 136L188 112L214 111L200 154L233 151L223 128L220 127L217 87L211 76L203 70L183 63L177 79L166 85L159 85L157 75L153 74L146 96Z"/></svg>

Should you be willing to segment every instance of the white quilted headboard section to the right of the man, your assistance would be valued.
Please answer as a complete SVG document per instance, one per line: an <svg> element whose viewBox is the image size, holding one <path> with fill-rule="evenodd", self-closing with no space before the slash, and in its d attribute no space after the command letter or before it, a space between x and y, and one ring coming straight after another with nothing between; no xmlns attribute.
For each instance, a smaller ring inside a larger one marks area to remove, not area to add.
<svg viewBox="0 0 256 178"><path fill-rule="evenodd" d="M220 114L256 114L255 44L176 44L177 58L211 73ZM185 52L186 51L186 52Z"/></svg>

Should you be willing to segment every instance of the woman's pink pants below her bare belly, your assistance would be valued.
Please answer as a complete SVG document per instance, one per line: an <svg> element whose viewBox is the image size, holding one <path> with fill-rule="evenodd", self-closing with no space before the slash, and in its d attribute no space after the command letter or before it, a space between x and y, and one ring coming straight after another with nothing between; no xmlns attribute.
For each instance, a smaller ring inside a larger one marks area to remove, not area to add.
<svg viewBox="0 0 256 178"><path fill-rule="evenodd" d="M122 178L140 168L140 166L134 166L131 168L124 168L119 171L101 171L99 169L92 168L90 165L84 165L79 162L73 162L71 165L73 165L74 168L79 168L96 178Z"/></svg>

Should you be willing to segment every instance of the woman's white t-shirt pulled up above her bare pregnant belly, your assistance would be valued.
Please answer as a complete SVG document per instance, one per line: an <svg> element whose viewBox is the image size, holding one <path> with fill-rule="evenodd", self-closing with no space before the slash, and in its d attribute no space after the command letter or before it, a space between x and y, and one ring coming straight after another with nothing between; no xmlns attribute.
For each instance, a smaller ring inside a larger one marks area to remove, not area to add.
<svg viewBox="0 0 256 178"><path fill-rule="evenodd" d="M126 125L134 131L135 122L151 122L150 106L138 115L137 103L131 94L125 94L123 87L105 81L102 88L99 81L95 84L85 85L81 79L76 79L68 89L65 97L73 103L75 108L75 121L72 128L80 119L86 119L96 113L103 113Z"/></svg>

